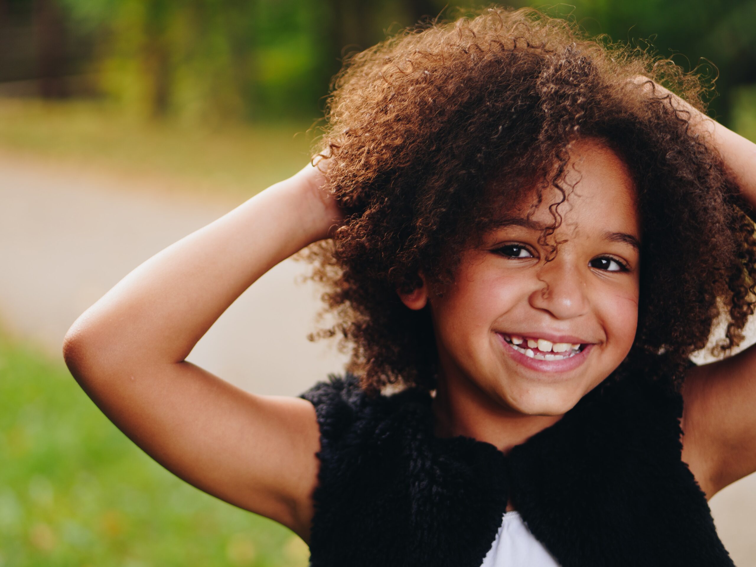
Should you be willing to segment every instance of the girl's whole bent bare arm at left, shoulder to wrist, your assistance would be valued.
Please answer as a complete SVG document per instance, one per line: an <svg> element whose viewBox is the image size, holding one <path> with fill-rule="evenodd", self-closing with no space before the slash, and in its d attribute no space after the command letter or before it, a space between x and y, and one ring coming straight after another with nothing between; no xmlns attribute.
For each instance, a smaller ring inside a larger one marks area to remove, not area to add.
<svg viewBox="0 0 756 567"><path fill-rule="evenodd" d="M74 322L63 349L82 389L150 457L306 542L320 448L314 407L245 392L184 359L262 274L333 235L342 215L319 168L139 265Z"/></svg>

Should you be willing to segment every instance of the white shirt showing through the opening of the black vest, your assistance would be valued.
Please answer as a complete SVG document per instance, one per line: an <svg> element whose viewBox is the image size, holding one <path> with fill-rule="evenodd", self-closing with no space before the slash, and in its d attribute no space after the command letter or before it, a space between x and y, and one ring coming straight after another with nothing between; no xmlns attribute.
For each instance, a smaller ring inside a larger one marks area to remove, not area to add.
<svg viewBox="0 0 756 567"><path fill-rule="evenodd" d="M534 538L519 512L504 513L494 544L481 567L559 567L541 542Z"/></svg>

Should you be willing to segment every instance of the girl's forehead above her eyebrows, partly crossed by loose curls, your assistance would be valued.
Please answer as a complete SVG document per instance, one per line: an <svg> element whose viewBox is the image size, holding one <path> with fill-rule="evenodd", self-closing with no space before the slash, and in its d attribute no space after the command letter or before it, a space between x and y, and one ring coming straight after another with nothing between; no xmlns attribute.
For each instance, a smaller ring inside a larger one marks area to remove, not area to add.
<svg viewBox="0 0 756 567"><path fill-rule="evenodd" d="M519 203L504 206L497 228L514 225L542 229L553 225L553 205L564 200L556 209L562 217L556 230L560 237L599 231L630 234L640 240L633 177L624 160L606 144L592 138L575 142L559 186L561 191L553 185L541 187L541 203L534 187Z"/></svg>

